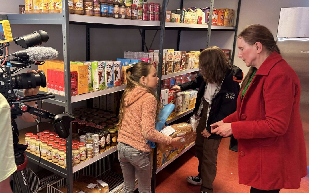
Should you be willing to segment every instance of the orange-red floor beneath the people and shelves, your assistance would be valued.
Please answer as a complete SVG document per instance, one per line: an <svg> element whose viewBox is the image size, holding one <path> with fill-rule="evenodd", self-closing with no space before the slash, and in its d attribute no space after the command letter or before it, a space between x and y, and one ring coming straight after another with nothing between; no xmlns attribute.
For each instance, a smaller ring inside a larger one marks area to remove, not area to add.
<svg viewBox="0 0 309 193"><path fill-rule="evenodd" d="M249 193L250 187L238 183L237 152L229 150L229 145L230 138L222 139L218 149L214 193ZM191 185L186 181L187 176L198 174L198 160L194 155L194 147L192 147L161 170L156 178L156 193L199 193L200 186ZM309 175L302 178L298 190L282 189L280 193L309 193Z"/></svg>

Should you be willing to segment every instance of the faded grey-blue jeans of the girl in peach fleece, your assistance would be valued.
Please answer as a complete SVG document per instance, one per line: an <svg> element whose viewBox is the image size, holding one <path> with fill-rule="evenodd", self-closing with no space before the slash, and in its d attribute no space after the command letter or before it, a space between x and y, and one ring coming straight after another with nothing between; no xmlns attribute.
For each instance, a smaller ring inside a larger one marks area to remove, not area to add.
<svg viewBox="0 0 309 193"><path fill-rule="evenodd" d="M135 173L140 193L151 192L152 164L150 152L142 152L118 142L118 159L123 173L123 193L134 193Z"/></svg>

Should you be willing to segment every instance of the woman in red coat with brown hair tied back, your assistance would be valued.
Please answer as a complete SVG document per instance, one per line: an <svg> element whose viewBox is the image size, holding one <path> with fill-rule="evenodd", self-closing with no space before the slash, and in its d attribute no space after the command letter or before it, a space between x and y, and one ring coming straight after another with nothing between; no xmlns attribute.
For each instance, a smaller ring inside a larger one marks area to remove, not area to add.
<svg viewBox="0 0 309 193"><path fill-rule="evenodd" d="M239 183L252 193L298 189L307 175L298 76L264 26L246 27L237 46L250 70L236 112L212 124L212 133L238 139Z"/></svg>

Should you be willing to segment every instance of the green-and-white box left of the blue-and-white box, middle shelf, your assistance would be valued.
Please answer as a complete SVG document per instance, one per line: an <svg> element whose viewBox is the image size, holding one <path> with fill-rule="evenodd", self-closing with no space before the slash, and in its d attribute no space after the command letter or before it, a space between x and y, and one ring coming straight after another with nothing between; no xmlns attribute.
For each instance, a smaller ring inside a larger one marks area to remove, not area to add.
<svg viewBox="0 0 309 193"><path fill-rule="evenodd" d="M93 90L105 89L105 65L104 61L92 62Z"/></svg>

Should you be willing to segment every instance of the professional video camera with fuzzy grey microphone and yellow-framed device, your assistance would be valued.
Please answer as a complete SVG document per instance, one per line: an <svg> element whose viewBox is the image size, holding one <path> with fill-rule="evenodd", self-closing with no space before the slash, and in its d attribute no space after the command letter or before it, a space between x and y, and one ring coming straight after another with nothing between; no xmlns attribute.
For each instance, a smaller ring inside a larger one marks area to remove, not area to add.
<svg viewBox="0 0 309 193"><path fill-rule="evenodd" d="M54 98L51 93L37 94L34 96L18 97L14 95L14 89L30 89L37 86L46 87L46 76L44 71L39 73L21 73L15 76L12 74L19 72L25 68L31 68L32 64L42 65L46 60L53 60L57 57L58 52L53 48L39 47L42 42L47 42L49 36L45 31L34 31L30 34L12 38L11 27L8 20L0 21L0 56L5 56L0 60L0 93L7 99L11 106L11 118L16 119L17 116L25 112L37 115L45 119L53 120L54 130L61 138L69 136L70 122L74 120L74 116L68 113L54 115L43 109L28 106L25 104L30 101L38 101ZM11 41L20 45L24 50L17 51L8 55L7 47ZM11 59L10 56L13 56ZM11 69L11 67L15 67ZM18 132L18 131L15 131ZM14 133L14 131L13 131Z"/></svg>

